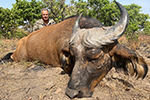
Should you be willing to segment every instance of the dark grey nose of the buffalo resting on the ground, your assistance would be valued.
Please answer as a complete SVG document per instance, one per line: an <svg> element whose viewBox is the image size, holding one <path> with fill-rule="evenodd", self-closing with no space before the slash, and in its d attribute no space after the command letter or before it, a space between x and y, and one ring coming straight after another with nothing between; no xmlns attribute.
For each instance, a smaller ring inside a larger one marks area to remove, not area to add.
<svg viewBox="0 0 150 100"><path fill-rule="evenodd" d="M81 98L82 97L82 92L81 91L78 91L78 90L75 90L75 89L70 89L70 88L66 88L65 90L65 93L66 95L68 95L71 99L75 98L75 97L78 97L78 98Z"/></svg>

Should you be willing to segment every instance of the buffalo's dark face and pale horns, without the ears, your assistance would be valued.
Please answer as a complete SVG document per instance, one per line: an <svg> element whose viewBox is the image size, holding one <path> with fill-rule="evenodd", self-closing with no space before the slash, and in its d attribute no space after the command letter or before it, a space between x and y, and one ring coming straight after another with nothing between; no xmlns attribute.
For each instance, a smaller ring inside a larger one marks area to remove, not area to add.
<svg viewBox="0 0 150 100"><path fill-rule="evenodd" d="M112 68L109 52L128 24L126 9L118 2L116 4L121 11L121 18L112 27L80 29L81 15L75 21L69 41L69 52L75 61L66 88L70 98L91 96L94 87Z"/></svg>

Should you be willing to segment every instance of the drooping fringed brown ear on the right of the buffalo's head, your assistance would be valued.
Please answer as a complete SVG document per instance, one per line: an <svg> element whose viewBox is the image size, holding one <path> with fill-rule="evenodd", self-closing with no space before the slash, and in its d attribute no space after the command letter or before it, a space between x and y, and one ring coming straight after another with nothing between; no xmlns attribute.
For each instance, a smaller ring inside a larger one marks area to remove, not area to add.
<svg viewBox="0 0 150 100"><path fill-rule="evenodd" d="M120 45L119 43L110 52L112 56L112 65L119 71L123 69L125 74L138 78L145 78L148 72L148 66L142 56Z"/></svg>

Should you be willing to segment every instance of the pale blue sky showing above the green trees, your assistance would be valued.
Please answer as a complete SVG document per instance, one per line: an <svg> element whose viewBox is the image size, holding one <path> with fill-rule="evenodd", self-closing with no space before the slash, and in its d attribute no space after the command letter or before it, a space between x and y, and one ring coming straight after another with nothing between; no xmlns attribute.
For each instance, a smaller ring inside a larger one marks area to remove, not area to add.
<svg viewBox="0 0 150 100"><path fill-rule="evenodd" d="M110 1L113 1L113 0L110 0ZM141 13L149 14L150 16L149 0L116 0L116 1L120 2L122 5L130 5L133 3L137 4L142 7ZM11 9L13 7L12 4L14 4L15 2L16 0L0 0L0 7ZM70 0L66 0L66 2L69 3Z"/></svg>

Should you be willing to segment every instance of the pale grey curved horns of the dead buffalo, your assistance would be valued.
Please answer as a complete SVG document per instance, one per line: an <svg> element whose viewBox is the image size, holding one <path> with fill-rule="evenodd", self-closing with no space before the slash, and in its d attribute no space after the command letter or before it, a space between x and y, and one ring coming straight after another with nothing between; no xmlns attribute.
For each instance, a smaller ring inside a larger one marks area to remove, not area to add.
<svg viewBox="0 0 150 100"><path fill-rule="evenodd" d="M118 5L119 10L121 12L120 20L112 27L104 27L105 29L102 29L100 27L95 27L92 29L84 30L87 31L84 32L86 34L84 34L83 36L83 43L85 46L88 47L97 46L101 48L104 45L109 45L114 43L114 41L118 40L122 36L122 34L124 33L128 25L128 20L129 20L128 12L120 3L116 1L115 3ZM79 19L81 15L75 21L72 35L77 33L78 30L81 30L79 27ZM74 38L74 36L72 36L72 38Z"/></svg>

